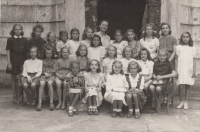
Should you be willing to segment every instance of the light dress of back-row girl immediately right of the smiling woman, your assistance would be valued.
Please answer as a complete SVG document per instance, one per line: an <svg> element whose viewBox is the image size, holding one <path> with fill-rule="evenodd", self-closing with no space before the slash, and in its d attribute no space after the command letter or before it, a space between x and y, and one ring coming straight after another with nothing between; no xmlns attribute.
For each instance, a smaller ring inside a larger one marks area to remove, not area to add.
<svg viewBox="0 0 200 132"><path fill-rule="evenodd" d="M120 43L117 43L116 41L110 41L111 45L114 45L117 48L117 58L121 59L123 58L122 52L124 48L128 45L127 41L121 41Z"/></svg>

